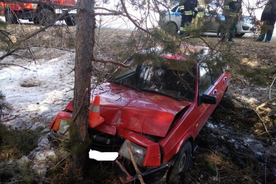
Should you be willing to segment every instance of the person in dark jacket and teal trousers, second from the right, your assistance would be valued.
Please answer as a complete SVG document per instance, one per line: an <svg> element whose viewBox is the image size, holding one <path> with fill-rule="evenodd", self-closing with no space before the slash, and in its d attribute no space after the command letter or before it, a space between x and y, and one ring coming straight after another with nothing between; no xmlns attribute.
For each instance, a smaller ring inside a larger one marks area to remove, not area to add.
<svg viewBox="0 0 276 184"><path fill-rule="evenodd" d="M235 27L238 23L239 15L242 13L242 0L225 0L223 14L225 15L225 25L222 31L222 39L229 32L228 41L234 42Z"/></svg>

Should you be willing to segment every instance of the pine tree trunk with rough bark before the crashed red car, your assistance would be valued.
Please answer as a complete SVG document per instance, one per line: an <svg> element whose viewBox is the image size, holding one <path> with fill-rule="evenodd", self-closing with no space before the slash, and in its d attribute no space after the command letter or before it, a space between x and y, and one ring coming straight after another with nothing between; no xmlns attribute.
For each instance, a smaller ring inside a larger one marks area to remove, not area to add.
<svg viewBox="0 0 276 184"><path fill-rule="evenodd" d="M87 125L91 95L91 73L94 32L94 0L78 0L76 27L75 88L73 98L73 130L70 136L72 147L68 175L73 179L83 178L87 171L88 150Z"/></svg>

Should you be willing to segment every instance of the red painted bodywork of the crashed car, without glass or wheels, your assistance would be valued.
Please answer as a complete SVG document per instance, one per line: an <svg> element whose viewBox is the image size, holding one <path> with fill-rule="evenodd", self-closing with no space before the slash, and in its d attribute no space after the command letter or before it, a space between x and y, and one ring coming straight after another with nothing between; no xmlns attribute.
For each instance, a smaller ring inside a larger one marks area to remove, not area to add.
<svg viewBox="0 0 276 184"><path fill-rule="evenodd" d="M202 47L189 47L196 51ZM206 48L203 48L206 49ZM188 49L186 50L188 52ZM165 55L164 58L179 60L181 55ZM143 167L157 167L177 154L186 140L193 140L220 102L230 74L224 70L204 93L215 95L216 104L199 104L199 65L196 64L195 97L193 101L179 101L159 94L137 91L116 84L104 83L94 90L100 95L100 115L105 122L95 127L103 133L119 136L147 148ZM91 101L92 101L91 97ZM72 102L66 111L73 111ZM64 115L64 114L63 114ZM176 116L177 115L177 116ZM55 117L60 117L59 114ZM63 117L69 119L68 117ZM51 123L50 129L55 123ZM154 142L146 135L160 137Z"/></svg>

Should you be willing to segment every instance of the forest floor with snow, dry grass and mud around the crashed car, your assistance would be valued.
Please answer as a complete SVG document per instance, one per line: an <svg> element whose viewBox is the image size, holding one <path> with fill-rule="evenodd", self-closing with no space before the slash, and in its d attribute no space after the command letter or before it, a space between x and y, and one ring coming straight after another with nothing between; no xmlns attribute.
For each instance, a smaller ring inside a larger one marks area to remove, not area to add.
<svg viewBox="0 0 276 184"><path fill-rule="evenodd" d="M12 38L14 40L38 29L33 25L7 27L15 35ZM29 72L16 66L0 68L1 90L7 101L16 106L16 111L10 117L18 115L7 122L13 129L36 129L42 126L47 135L51 119L72 100L73 92L70 89L73 87L74 76L71 71L74 68L75 54L69 51L74 51L75 32L75 27L49 28L29 39L28 44L47 44L56 48L34 47L31 52L24 50L18 52L17 56L9 56L2 61L31 69ZM96 57L120 60L127 50L126 43L133 41L129 39L132 34L132 30L101 29L97 32L94 51ZM210 35L203 35L202 38L211 46L216 45L220 39ZM202 39L192 39L193 44L206 47ZM265 117L276 114L276 104L272 102L259 111L256 110L270 96L271 99L276 97L276 82L271 86L276 77L276 40L270 43L254 42L253 37L234 40L234 43L227 43L235 55L233 62L229 63L231 84L196 138L198 148L183 183L276 183L276 124L275 119ZM102 67L99 64L95 66ZM39 95L41 92L42 95ZM19 105L16 104L18 102ZM42 151L47 150L44 143L47 140L38 146ZM0 160L3 161L3 158L0 157ZM65 169L66 165L62 167ZM97 165L94 171L96 170L103 172L105 169L102 165ZM62 168L60 171L63 171ZM63 174L61 177L52 176L53 172L48 172L45 181L60 182ZM98 174L95 178L97 183L119 183L112 170L108 174ZM5 182L13 180L8 177L1 180L0 177L0 183Z"/></svg>

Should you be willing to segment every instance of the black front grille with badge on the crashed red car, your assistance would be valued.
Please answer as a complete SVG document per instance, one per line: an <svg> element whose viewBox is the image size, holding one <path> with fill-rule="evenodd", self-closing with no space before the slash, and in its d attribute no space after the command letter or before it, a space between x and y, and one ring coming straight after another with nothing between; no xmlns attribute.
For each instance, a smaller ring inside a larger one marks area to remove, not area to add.
<svg viewBox="0 0 276 184"><path fill-rule="evenodd" d="M112 136L94 129L88 129L89 137L92 140L90 149L101 152L119 151L125 141L122 137Z"/></svg>

